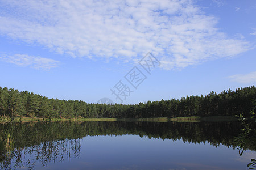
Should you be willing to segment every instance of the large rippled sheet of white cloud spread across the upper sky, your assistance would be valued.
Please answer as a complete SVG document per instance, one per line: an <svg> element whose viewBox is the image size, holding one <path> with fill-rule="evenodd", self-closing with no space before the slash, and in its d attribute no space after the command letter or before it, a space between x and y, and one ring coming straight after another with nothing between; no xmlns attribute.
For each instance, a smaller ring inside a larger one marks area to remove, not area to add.
<svg viewBox="0 0 256 170"><path fill-rule="evenodd" d="M191 0L0 0L0 11L0 35L72 57L134 62L152 52L164 69L181 69L249 50Z"/></svg>

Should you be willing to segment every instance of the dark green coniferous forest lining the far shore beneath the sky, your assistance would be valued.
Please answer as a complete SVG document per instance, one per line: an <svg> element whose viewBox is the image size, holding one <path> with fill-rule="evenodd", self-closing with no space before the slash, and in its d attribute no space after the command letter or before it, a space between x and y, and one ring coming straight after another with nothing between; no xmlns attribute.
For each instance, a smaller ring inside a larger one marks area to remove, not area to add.
<svg viewBox="0 0 256 170"><path fill-rule="evenodd" d="M1 116L47 118L150 118L179 116L250 116L256 99L256 88L245 87L210 92L207 96L187 96L181 99L147 101L132 105L88 104L79 100L48 99L45 96L13 88L0 87Z"/></svg>

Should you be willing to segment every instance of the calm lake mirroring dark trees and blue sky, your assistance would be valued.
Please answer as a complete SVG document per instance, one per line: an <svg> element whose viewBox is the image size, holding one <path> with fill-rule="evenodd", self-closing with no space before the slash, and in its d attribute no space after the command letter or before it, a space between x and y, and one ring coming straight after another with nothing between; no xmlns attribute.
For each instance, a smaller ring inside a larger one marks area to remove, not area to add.
<svg viewBox="0 0 256 170"><path fill-rule="evenodd" d="M248 169L256 146L240 156L241 128L236 121L5 124L0 161L3 169Z"/></svg>

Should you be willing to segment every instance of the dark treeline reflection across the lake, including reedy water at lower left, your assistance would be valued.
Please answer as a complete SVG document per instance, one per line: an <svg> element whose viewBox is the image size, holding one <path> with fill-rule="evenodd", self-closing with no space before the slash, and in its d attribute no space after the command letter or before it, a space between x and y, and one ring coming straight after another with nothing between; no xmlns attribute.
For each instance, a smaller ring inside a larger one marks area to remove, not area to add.
<svg viewBox="0 0 256 170"><path fill-rule="evenodd" d="M84 137L89 138L89 136L139 135L141 138L168 139L168 141L183 141L187 143L209 143L214 147L224 145L236 148L234 137L241 133L240 128L241 125L237 122L67 121L6 124L0 125L0 164L3 169L16 167L32 169L35 164L47 166L49 163L68 161L81 155L81 139ZM98 144L98 146L100 145L102 143ZM141 145L146 145L146 143L141 143ZM117 146L118 144L115 145L115 147ZM121 147L119 149L122 150ZM244 149L255 151L256 146L248 145ZM109 151L108 154L111 152L114 151ZM129 151L127 150L125 153L127 152ZM86 152L84 154L86 155Z"/></svg>

